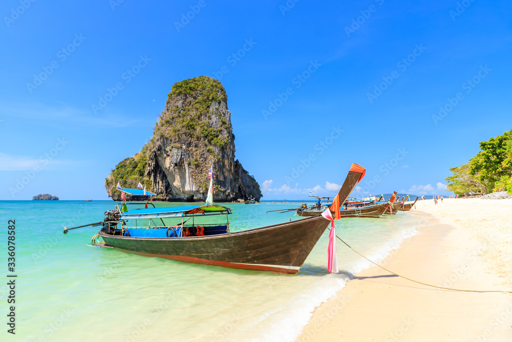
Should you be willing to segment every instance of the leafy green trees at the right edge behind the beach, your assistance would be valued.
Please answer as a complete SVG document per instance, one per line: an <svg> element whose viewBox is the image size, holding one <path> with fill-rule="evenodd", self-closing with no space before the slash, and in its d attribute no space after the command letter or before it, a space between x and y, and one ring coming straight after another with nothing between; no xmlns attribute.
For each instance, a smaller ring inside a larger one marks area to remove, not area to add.
<svg viewBox="0 0 512 342"><path fill-rule="evenodd" d="M494 191L512 193L512 130L480 142L478 154L467 164L451 168L448 190L461 194Z"/></svg>

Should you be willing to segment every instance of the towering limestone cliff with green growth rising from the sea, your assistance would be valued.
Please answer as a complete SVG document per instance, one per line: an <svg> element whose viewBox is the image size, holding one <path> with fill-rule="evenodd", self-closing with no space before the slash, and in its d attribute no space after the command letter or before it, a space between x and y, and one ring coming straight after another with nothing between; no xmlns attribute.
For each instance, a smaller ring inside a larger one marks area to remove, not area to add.
<svg viewBox="0 0 512 342"><path fill-rule="evenodd" d="M157 194L155 199L204 202L212 167L214 201L250 195L259 200L259 184L234 159L230 117L226 92L217 79L199 76L174 84L150 143L105 179L109 196L119 199L117 182L123 188L141 182Z"/></svg>

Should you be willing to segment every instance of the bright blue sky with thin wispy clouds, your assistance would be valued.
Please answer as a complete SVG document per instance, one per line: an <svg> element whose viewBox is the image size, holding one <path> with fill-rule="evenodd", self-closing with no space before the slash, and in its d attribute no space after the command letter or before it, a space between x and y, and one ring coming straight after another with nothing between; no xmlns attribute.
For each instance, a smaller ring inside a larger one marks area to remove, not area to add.
<svg viewBox="0 0 512 342"><path fill-rule="evenodd" d="M7 0L0 14L3 200L106 199L171 86L199 75L224 85L263 200L333 194L351 163L367 168L359 194L446 194L448 169L512 128L506 1Z"/></svg>

